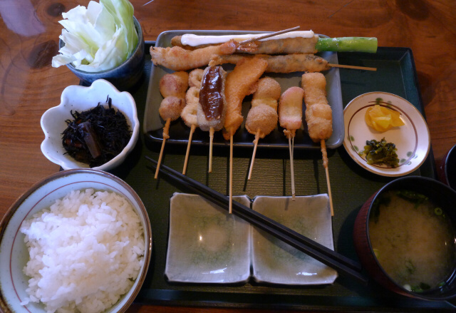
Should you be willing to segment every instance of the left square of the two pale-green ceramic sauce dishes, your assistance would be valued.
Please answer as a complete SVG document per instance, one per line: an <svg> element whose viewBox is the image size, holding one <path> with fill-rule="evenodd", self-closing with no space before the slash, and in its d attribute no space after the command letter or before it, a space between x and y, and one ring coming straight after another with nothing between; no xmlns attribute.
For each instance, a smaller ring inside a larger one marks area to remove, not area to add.
<svg viewBox="0 0 456 313"><path fill-rule="evenodd" d="M247 196L234 200L250 206ZM249 223L199 195L175 193L165 275L170 282L230 284L250 276Z"/></svg>

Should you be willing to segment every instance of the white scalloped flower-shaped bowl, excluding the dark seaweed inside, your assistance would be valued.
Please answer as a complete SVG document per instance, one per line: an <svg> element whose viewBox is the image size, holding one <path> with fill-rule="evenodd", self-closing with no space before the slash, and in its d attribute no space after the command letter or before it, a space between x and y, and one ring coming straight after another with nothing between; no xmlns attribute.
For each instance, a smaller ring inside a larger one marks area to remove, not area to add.
<svg viewBox="0 0 456 313"><path fill-rule="evenodd" d="M90 168L86 163L81 163L66 154L62 144L62 133L67 128L66 120L73 120L73 113L88 111L95 108L98 103L105 103L108 96L112 99L113 108L123 113L130 125L132 135L128 144L115 158L109 162L95 167L95 170L110 170L123 163L128 153L135 148L138 141L140 122L136 111L136 103L130 93L118 91L112 83L98 79L89 87L68 86L63 90L61 103L48 109L41 117L41 128L45 138L41 143L41 151L53 163L60 165L63 170L73 168Z"/></svg>

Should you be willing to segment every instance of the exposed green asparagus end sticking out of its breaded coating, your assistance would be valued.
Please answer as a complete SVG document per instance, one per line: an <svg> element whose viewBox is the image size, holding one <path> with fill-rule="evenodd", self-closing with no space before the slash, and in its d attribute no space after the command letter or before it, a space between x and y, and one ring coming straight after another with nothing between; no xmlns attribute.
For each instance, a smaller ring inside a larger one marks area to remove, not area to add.
<svg viewBox="0 0 456 313"><path fill-rule="evenodd" d="M375 37L319 38L315 48L317 51L375 53L377 39Z"/></svg>

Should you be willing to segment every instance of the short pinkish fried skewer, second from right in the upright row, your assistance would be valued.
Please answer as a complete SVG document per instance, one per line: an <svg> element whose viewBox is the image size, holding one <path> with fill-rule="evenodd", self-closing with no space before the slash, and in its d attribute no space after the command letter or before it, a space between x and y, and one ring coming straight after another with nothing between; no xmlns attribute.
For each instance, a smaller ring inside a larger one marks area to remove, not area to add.
<svg viewBox="0 0 456 313"><path fill-rule="evenodd" d="M284 134L288 138L289 151L290 151L290 170L291 170L291 196L295 199L294 189L294 164L293 164L293 150L294 150L294 136L296 130L301 128L302 124L302 100L304 97L304 90L299 87L288 88L281 96L279 101L279 123L284 129Z"/></svg>

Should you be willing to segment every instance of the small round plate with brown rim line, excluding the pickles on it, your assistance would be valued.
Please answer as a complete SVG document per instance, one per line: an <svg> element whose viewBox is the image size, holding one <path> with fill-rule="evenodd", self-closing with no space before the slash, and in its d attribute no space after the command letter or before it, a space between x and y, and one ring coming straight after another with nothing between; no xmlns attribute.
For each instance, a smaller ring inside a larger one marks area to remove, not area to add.
<svg viewBox="0 0 456 313"><path fill-rule="evenodd" d="M391 128L383 133L370 128L364 116L368 108L379 104L400 113L405 125ZM412 173L423 164L430 151L430 134L425 119L412 103L400 96L385 92L364 93L354 98L343 111L345 139L343 146L353 160L366 170L382 176L403 176ZM381 140L394 143L398 148L399 166L390 168L386 165L368 165L363 150L366 140Z"/></svg>

